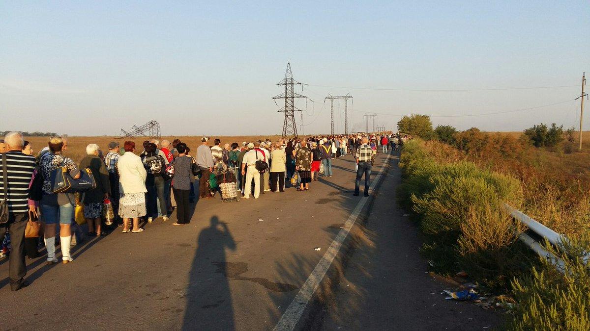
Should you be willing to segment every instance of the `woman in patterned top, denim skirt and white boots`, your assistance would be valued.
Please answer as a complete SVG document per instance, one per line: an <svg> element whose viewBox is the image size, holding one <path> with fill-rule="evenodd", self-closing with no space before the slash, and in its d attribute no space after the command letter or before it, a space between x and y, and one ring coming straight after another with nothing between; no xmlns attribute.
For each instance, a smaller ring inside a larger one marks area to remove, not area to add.
<svg viewBox="0 0 590 331"><path fill-rule="evenodd" d="M41 198L41 216L45 222L45 248L47 249L47 264L57 262L55 259L55 231L60 223L61 259L63 263L72 261L70 256L71 223L74 220L74 194L51 192L51 170L65 166L74 178L80 177L80 171L71 158L61 155L67 148L67 140L61 137L51 137L48 143L49 151L41 157L39 168L43 176L43 196Z"/></svg>

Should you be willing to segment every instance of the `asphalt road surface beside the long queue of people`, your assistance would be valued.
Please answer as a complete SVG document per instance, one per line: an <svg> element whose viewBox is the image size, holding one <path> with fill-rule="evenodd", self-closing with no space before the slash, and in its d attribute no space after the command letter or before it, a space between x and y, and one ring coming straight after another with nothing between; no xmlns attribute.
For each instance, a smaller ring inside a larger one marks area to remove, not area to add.
<svg viewBox="0 0 590 331"><path fill-rule="evenodd" d="M373 169L384 160L379 154ZM319 296L328 299L310 304L299 328L454 329L467 316L461 314L475 308L430 294L440 286L425 274L417 229L397 210L395 161L386 168L385 182L363 210L371 212L371 236L356 229L356 239L343 247L348 262L337 259L338 272L320 287ZM32 284L18 292L9 290L8 263L1 260L0 330L273 329L363 198L352 196L353 178L347 156L334 161L332 178L313 182L310 191L198 201L187 226L172 226L172 217L139 234L115 231L76 246L69 264L28 260ZM376 254L363 246L369 241L383 248ZM346 277L334 277L342 273ZM478 323L495 319L483 313Z"/></svg>

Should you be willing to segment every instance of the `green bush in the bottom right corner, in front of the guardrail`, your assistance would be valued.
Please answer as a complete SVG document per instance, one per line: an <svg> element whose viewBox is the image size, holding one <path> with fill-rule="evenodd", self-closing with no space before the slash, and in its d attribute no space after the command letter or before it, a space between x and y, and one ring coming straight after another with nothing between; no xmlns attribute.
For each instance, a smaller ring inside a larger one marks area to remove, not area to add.
<svg viewBox="0 0 590 331"><path fill-rule="evenodd" d="M512 282L517 304L513 308L513 330L590 330L590 235L560 247L546 249L563 261L563 273L548 260L540 269Z"/></svg>

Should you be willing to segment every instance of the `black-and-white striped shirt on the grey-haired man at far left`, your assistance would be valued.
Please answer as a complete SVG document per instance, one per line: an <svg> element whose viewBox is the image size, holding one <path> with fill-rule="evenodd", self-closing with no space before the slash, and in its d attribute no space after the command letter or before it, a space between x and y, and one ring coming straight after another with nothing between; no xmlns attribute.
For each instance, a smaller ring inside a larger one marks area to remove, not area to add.
<svg viewBox="0 0 590 331"><path fill-rule="evenodd" d="M21 151L9 151L5 155L8 181L5 181L4 164L2 157L0 157L0 199L4 200L4 183L7 182L8 211L26 213L29 210L29 184L36 166L35 157Z"/></svg>

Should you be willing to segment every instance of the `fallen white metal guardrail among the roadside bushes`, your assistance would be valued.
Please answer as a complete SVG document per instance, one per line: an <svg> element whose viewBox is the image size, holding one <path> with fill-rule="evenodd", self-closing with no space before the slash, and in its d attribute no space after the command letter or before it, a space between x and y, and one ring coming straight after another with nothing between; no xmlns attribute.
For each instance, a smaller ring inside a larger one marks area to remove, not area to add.
<svg viewBox="0 0 590 331"><path fill-rule="evenodd" d="M549 243L555 245L556 247L559 247L560 244L568 240L565 236L562 236L561 234L549 229L548 227L544 226L538 221L530 218L522 211L513 208L509 204L504 204L504 208L506 208L506 211L510 213L510 216L525 224L531 231L536 233L538 236L547 239ZM538 241L536 241L526 233L520 233L519 239L520 241L523 241L523 243L525 243L527 246L529 246L530 249L535 251L535 253L539 254L539 256L548 259L549 262L554 264L560 272L564 272L565 264L563 263L563 260L559 259L554 254L546 250L545 247L543 247Z"/></svg>

